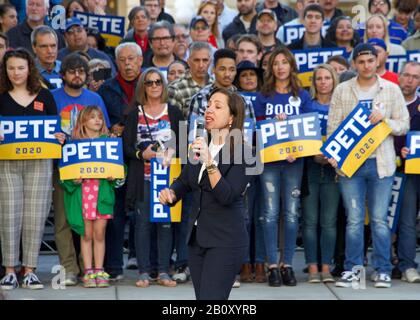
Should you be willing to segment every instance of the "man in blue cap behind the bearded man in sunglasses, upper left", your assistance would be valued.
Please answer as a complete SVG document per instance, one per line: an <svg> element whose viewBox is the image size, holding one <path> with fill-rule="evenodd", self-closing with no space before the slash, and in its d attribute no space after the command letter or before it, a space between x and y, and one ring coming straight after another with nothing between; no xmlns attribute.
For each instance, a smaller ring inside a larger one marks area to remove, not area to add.
<svg viewBox="0 0 420 320"><path fill-rule="evenodd" d="M67 19L66 29L64 30L64 38L67 42L67 48L63 48L58 51L58 60L63 60L72 52L81 51L87 53L91 59L101 59L108 61L112 69L112 75L114 76L116 74L115 65L106 53L89 48L87 31L79 18L73 17Z"/></svg>

